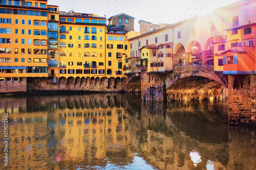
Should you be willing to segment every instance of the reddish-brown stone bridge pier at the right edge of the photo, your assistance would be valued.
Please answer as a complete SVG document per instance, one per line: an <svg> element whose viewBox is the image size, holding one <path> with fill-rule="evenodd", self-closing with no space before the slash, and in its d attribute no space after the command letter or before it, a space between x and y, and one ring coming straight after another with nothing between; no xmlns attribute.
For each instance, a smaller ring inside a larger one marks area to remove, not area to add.
<svg viewBox="0 0 256 170"><path fill-rule="evenodd" d="M256 125L256 76L229 75L230 125Z"/></svg>

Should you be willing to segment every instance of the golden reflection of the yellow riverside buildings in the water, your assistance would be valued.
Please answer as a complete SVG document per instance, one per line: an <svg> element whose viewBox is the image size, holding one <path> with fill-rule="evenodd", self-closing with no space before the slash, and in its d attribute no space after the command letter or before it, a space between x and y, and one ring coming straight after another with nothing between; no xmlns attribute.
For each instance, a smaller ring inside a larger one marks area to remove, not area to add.
<svg viewBox="0 0 256 170"><path fill-rule="evenodd" d="M123 95L30 96L10 103L1 103L0 111L11 120L12 168L133 162Z"/></svg>

